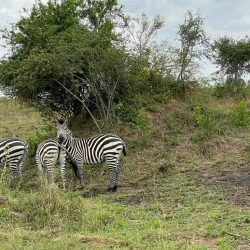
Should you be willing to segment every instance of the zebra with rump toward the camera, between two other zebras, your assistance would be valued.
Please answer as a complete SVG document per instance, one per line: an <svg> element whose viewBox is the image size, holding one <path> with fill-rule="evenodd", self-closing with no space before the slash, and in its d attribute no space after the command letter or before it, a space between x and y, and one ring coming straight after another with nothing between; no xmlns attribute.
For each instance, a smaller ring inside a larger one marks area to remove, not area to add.
<svg viewBox="0 0 250 250"><path fill-rule="evenodd" d="M77 167L70 160L65 150L63 150L58 143L57 139L48 139L41 142L36 150L36 165L38 167L40 177L43 177L43 168L46 168L50 181L52 184L55 182L55 165L58 162L60 166L62 188L66 189L66 178L65 178L65 163L66 160L72 165L74 173L74 185L76 178L79 176Z"/></svg>

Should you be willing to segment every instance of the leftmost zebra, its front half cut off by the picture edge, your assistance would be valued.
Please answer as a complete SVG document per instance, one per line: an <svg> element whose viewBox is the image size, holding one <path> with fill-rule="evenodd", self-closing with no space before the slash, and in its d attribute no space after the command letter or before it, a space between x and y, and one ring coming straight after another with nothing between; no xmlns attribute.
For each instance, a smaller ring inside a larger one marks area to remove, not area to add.
<svg viewBox="0 0 250 250"><path fill-rule="evenodd" d="M6 138L0 141L0 165L9 166L13 187L17 176L22 176L23 163L27 155L26 144L18 138Z"/></svg>

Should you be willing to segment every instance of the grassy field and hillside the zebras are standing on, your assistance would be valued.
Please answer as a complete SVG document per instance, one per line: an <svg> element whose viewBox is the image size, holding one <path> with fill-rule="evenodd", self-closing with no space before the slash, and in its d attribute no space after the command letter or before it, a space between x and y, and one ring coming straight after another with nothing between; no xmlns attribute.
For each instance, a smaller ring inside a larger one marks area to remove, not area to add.
<svg viewBox="0 0 250 250"><path fill-rule="evenodd" d="M68 169L65 193L40 183L32 158L17 189L1 169L0 249L250 249L248 101L197 96L145 114L146 129L115 129L129 150L117 193L102 192L105 165L87 166L75 192ZM1 137L27 140L43 123L6 99L0 117Z"/></svg>

